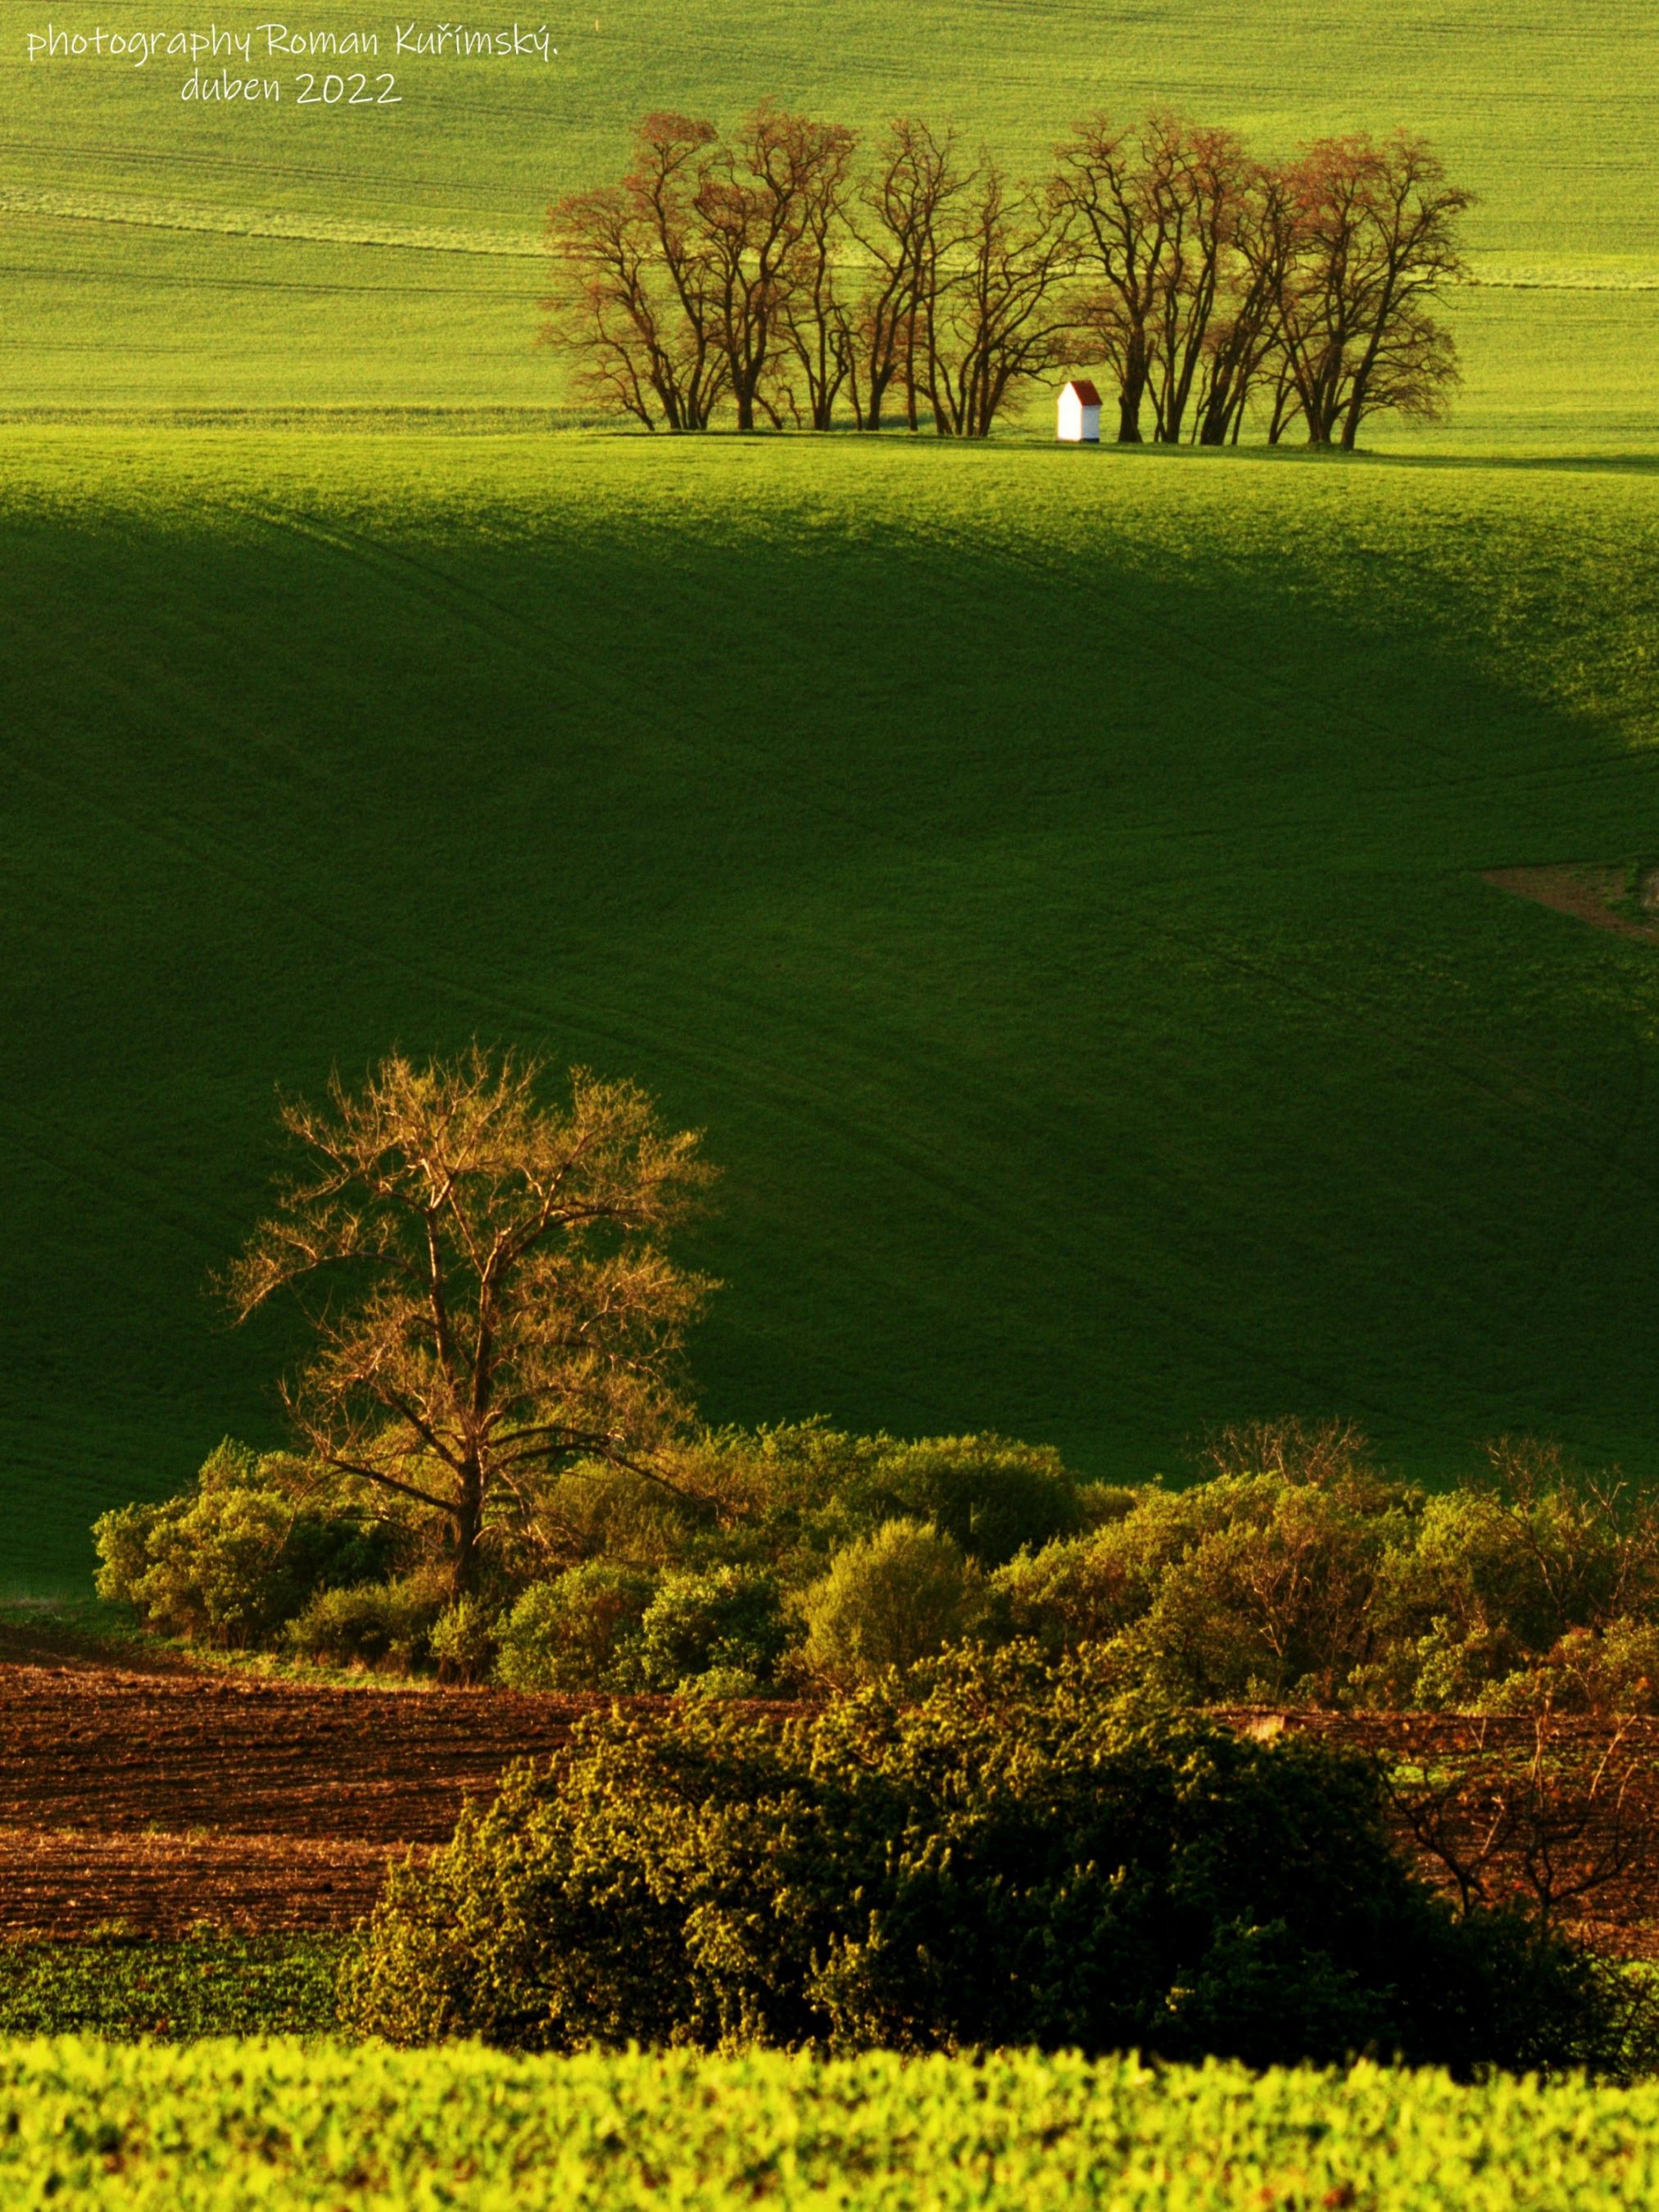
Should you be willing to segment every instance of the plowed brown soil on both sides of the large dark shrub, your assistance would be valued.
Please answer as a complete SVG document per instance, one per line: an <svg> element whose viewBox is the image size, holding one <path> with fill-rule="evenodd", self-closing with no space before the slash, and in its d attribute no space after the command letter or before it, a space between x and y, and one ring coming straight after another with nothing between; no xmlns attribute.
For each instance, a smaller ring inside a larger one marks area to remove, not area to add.
<svg viewBox="0 0 1659 2212"><path fill-rule="evenodd" d="M487 1796L513 1759L555 1752L582 1712L606 1703L312 1690L126 1672L95 1657L0 1661L0 1936L82 1936L111 1922L150 1936L199 1922L250 1933L349 1927L374 1905L387 1858L445 1843L467 1796ZM1460 1776L1449 1834L1464 1858L1535 1745L1524 1719L1225 1719L1248 1734L1310 1732L1422 1776ZM1577 1809L1568 1790L1546 1838L1568 1887L1577 1874L1604 1874L1566 1900L1562 1924L1604 1949L1659 1958L1659 1721L1555 1723L1551 1745L1573 1787L1599 1767L1610 1776ZM1405 1820L1400 1840L1453 1889ZM1517 1827L1482 1860L1484 1896L1526 1898L1526 1847Z"/></svg>

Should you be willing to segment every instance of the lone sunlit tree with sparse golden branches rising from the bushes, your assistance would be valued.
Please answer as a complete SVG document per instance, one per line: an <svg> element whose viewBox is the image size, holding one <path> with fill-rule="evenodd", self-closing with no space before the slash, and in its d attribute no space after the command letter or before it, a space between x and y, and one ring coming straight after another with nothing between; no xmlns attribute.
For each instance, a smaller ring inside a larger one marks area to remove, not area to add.
<svg viewBox="0 0 1659 2212"><path fill-rule="evenodd" d="M281 1104L310 1152L228 1270L239 1321L301 1296L285 1385L305 1451L347 1489L436 1515L451 1590L571 1458L655 1473L681 1418L672 1358L712 1287L659 1248L710 1170L633 1084L473 1046L383 1060L325 1106ZM668 1480L657 1475L657 1480Z"/></svg>

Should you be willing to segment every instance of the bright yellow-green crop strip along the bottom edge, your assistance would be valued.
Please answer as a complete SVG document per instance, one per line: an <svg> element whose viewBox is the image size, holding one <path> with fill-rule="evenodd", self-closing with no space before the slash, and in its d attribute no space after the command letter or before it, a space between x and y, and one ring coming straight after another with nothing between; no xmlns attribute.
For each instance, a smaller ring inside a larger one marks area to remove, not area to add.
<svg viewBox="0 0 1659 2212"><path fill-rule="evenodd" d="M507 2059L0 2044L7 2205L1577 2212L1659 2194L1659 2088L1022 2053Z"/></svg>

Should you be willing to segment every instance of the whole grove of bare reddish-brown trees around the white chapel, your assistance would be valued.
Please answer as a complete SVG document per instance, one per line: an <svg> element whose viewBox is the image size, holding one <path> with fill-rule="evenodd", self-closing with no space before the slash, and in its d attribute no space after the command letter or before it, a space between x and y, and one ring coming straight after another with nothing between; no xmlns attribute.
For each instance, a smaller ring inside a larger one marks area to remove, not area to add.
<svg viewBox="0 0 1659 2212"><path fill-rule="evenodd" d="M987 438L1037 385L1115 387L1117 440L1352 449L1458 383L1433 314L1471 195L1405 131L1263 164L1155 108L1084 119L1048 177L900 117L874 142L761 106L737 131L646 115L613 186L549 210L542 338L580 394L650 429Z"/></svg>

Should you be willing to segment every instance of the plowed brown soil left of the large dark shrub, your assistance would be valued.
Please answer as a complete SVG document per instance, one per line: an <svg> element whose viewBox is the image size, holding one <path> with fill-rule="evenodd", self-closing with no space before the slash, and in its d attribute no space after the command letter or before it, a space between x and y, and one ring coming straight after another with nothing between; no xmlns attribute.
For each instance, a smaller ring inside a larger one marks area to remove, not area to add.
<svg viewBox="0 0 1659 2212"><path fill-rule="evenodd" d="M0 1666L0 1933L349 1927L597 1703Z"/></svg>

